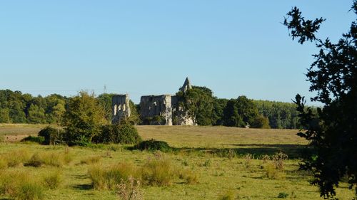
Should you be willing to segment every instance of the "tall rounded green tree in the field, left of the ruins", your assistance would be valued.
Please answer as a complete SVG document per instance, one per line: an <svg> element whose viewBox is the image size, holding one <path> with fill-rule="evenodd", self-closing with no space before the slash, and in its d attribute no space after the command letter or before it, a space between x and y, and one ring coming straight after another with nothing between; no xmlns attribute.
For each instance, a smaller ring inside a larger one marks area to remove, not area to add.
<svg viewBox="0 0 357 200"><path fill-rule="evenodd" d="M103 112L94 94L81 91L79 95L69 99L64 114L66 142L69 145L91 142L105 122Z"/></svg>

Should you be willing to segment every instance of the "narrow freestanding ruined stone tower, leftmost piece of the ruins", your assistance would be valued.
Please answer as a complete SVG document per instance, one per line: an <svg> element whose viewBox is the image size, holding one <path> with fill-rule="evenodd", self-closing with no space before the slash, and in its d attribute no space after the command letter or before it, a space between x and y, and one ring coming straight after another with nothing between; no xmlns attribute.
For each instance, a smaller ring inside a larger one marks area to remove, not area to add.
<svg viewBox="0 0 357 200"><path fill-rule="evenodd" d="M120 122L130 117L129 95L114 95L113 98L111 98L111 107L113 111L112 123Z"/></svg>

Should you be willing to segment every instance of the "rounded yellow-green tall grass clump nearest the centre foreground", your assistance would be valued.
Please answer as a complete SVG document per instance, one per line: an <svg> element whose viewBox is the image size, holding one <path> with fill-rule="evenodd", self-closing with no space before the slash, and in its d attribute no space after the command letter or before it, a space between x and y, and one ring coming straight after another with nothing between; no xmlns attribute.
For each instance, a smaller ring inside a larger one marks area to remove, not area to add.
<svg viewBox="0 0 357 200"><path fill-rule="evenodd" d="M177 170L169 159L154 157L149 159L141 168L144 184L151 186L170 186L176 177Z"/></svg>

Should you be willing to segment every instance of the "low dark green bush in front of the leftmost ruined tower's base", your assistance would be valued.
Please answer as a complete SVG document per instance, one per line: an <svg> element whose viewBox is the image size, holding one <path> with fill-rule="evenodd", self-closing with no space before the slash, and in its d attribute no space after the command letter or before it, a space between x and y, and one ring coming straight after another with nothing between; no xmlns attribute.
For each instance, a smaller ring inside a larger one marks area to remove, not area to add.
<svg viewBox="0 0 357 200"><path fill-rule="evenodd" d="M122 121L119 125L104 125L101 133L93 138L96 143L138 144L141 137L134 125Z"/></svg>

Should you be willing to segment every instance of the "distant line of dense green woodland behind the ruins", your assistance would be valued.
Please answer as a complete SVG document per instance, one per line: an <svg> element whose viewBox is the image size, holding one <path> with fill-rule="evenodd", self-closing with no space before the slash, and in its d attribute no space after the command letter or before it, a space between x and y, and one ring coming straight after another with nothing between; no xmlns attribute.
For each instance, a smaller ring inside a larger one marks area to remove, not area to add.
<svg viewBox="0 0 357 200"><path fill-rule="evenodd" d="M108 123L111 122L112 95L96 97ZM193 86L186 94L176 95L181 99L181 106L196 117L198 125L245 127L249 124L257 128L301 128L296 105L292 102L250 100L245 96L221 99L214 97L210 89L198 86ZM60 124L69 99L58 94L34 97L20 91L0 90L0 123ZM135 123L140 125L140 106L131 102L131 112Z"/></svg>

